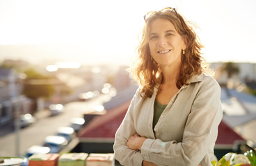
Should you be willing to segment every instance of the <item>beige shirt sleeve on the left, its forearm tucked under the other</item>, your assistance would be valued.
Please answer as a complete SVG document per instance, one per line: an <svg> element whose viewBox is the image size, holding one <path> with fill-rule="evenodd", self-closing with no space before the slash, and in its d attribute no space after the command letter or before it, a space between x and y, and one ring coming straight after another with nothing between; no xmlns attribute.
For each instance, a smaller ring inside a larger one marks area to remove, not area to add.
<svg viewBox="0 0 256 166"><path fill-rule="evenodd" d="M141 165L143 158L140 151L134 151L127 147L127 141L130 136L136 133L133 120L134 112L134 100L139 95L139 91L136 92L134 98L131 100L127 114L125 115L122 124L115 133L115 143L113 145L115 159L119 161L121 165Z"/></svg>

